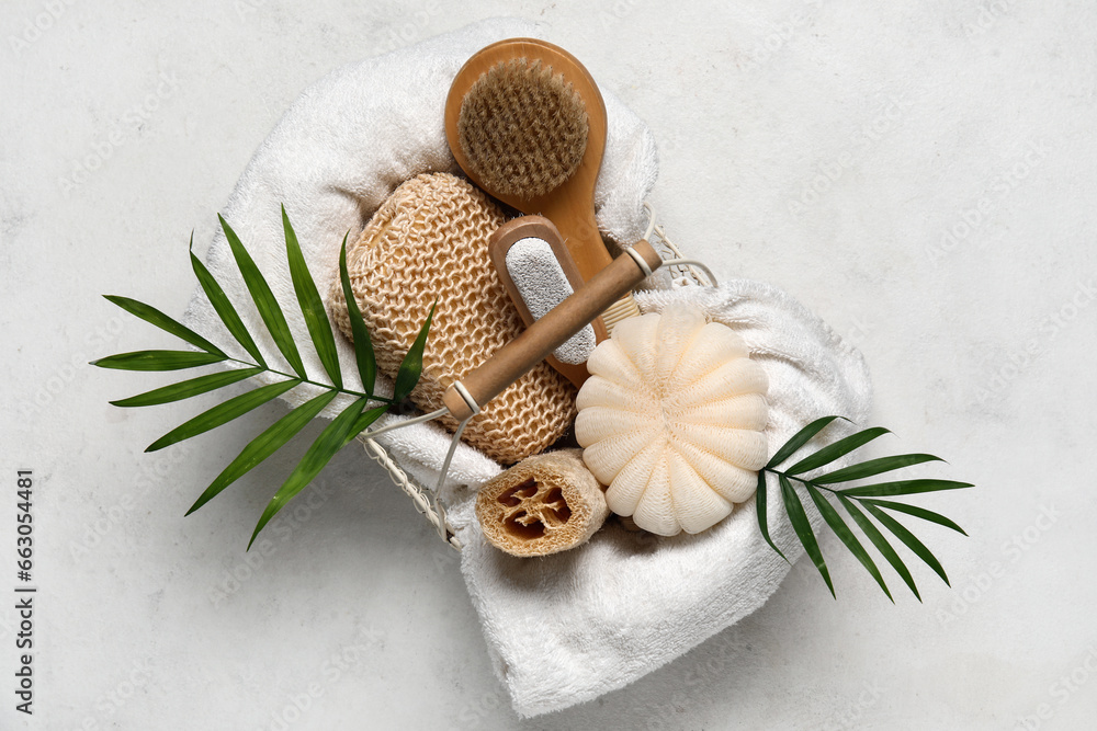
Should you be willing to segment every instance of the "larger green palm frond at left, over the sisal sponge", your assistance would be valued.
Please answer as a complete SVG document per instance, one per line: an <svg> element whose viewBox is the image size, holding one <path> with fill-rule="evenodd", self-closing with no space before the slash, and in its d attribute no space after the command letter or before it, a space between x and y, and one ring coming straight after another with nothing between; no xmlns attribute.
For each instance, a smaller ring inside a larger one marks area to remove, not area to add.
<svg viewBox="0 0 1097 731"><path fill-rule="evenodd" d="M194 255L193 235L190 241L190 261L194 276L208 298L210 304L213 306L214 311L217 313L217 317L224 323L225 329L251 359L245 361L229 357L225 350L182 323L177 322L155 307L128 297L110 295L106 296L106 299L114 305L197 347L199 352L136 351L99 358L98 361L92 361L92 365L121 370L180 370L225 362L229 362L236 366L229 370L189 378L111 402L118 407L147 407L171 403L216 391L233 384L247 381L252 377L264 377L261 380L268 381L265 385L256 385L250 390L233 396L180 424L150 444L147 452L162 449L239 419L263 403L284 396L297 386L307 385L320 390L317 396L281 416L259 434L259 436L253 438L214 478L205 491L194 501L191 509L186 511L188 515L205 505L220 494L228 486L239 480L281 449L313 419L318 416L338 396L344 395L353 398L352 403L343 409L327 425L320 436L306 450L290 477L271 499L251 535L251 540L248 544L250 548L262 528L319 473L339 449L384 415L393 403L410 395L422 373L423 349L427 344L434 307L431 307L430 316L423 322L418 336L404 357L404 362L396 374L396 398L386 399L375 397L373 388L376 380L376 359L369 330L362 319L362 313L358 308L358 302L350 286L350 278L347 273L347 239L344 237L340 252L340 277L343 285L343 294L347 298L351 330L354 335L352 344L359 375L362 378L363 391L346 388L342 373L340 372L339 354L331 322L316 287L316 282L308 271L297 235L294 232L290 217L283 206L282 224L285 235L286 259L290 276L293 281L294 294L296 295L297 305L301 308L305 325L308 330L310 344L331 384L327 385L309 380L301 357L301 351L298 350L299 344L294 341L290 325L286 322L281 306L274 298L270 285L259 271L255 260L248 253L244 242L240 241L236 231L228 225L228 221L220 216L218 216L218 220L228 240L228 245L236 260L244 284L251 294L251 299L259 312L259 317L279 352L281 352L290 365L292 374L283 373L268 365L257 345L256 334L248 330L239 312L226 296L222 285L210 273L202 261ZM271 379L274 379L273 382L270 382Z"/></svg>

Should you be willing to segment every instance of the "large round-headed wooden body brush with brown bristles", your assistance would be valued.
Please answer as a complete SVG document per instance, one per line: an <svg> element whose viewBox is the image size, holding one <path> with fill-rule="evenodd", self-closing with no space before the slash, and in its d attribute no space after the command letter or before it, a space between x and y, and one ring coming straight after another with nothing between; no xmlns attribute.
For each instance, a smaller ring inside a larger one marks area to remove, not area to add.
<svg viewBox="0 0 1097 731"><path fill-rule="evenodd" d="M479 50L457 72L445 102L445 135L461 169L505 204L552 220L583 282L612 261L593 202L606 128L606 105L590 73L536 38ZM626 294L591 323L597 340L638 313Z"/></svg>

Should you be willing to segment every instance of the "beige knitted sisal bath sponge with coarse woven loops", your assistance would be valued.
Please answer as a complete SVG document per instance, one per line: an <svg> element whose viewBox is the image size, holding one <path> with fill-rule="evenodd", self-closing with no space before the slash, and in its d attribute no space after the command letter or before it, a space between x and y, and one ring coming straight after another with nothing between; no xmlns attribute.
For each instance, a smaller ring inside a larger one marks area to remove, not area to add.
<svg viewBox="0 0 1097 731"><path fill-rule="evenodd" d="M377 369L395 377L430 306L438 310L411 400L442 408L442 393L522 331L522 321L487 254L502 213L479 190L448 173L407 181L377 209L347 251L351 287L373 340ZM328 301L351 338L339 277ZM504 464L542 452L575 418L575 388L540 363L490 401L463 438ZM443 418L451 431L456 422Z"/></svg>

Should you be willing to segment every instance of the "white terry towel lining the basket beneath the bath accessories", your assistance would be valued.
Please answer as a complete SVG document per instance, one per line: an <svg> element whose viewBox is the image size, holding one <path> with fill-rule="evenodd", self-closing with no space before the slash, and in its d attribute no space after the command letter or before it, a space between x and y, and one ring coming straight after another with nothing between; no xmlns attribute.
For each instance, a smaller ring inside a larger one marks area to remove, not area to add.
<svg viewBox="0 0 1097 731"><path fill-rule="evenodd" d="M279 205L285 204L318 289L327 293L343 233L361 231L405 180L456 171L442 111L461 65L495 41L542 35L530 23L485 21L346 66L307 89L260 146L224 215L271 284L295 339L306 344L302 357L310 378L326 380L296 306ZM596 194L598 221L611 238L631 242L646 222L642 202L655 182L655 145L634 114L606 90L603 95L609 137ZM248 329L264 333L223 235L211 243L206 263ZM869 380L860 356L787 295L739 281L720 289L646 292L637 299L643 309L657 310L677 297L738 330L766 367L771 450L817 416L867 416ZM184 321L218 343L234 342L201 290ZM282 363L269 336L257 342L269 362ZM360 387L351 346L338 333L337 344L348 387ZM391 392L391 384L381 380L378 391ZM296 406L316 392L302 386L284 398ZM325 415L347 403L337 399ZM378 442L411 476L432 486L449 435L422 424ZM473 489L499 470L462 445L446 496L489 654L523 716L566 708L635 681L761 606L788 572L761 540L753 504L698 536L655 538L609 527L558 556L525 561L505 556L484 541L472 504ZM779 493L770 500L779 505ZM802 550L792 548L798 544L791 526L779 515L776 510L771 515L774 540L795 559Z"/></svg>

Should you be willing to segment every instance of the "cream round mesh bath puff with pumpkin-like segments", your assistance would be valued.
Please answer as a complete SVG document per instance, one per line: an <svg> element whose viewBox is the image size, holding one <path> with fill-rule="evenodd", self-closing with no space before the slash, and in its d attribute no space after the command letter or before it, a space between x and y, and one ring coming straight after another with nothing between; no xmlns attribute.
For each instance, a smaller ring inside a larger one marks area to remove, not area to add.
<svg viewBox="0 0 1097 731"><path fill-rule="evenodd" d="M587 368L575 435L612 512L674 536L712 527L754 494L768 379L731 328L672 304L619 323Z"/></svg>

